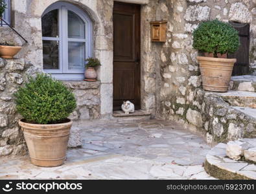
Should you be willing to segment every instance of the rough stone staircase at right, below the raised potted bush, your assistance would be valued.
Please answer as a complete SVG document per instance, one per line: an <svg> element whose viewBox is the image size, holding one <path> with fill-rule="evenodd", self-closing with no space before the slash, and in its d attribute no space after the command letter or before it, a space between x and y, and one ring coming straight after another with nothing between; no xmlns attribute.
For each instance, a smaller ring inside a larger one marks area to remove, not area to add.
<svg viewBox="0 0 256 194"><path fill-rule="evenodd" d="M215 142L256 138L256 76L231 78L229 91L205 92L204 128Z"/></svg>

